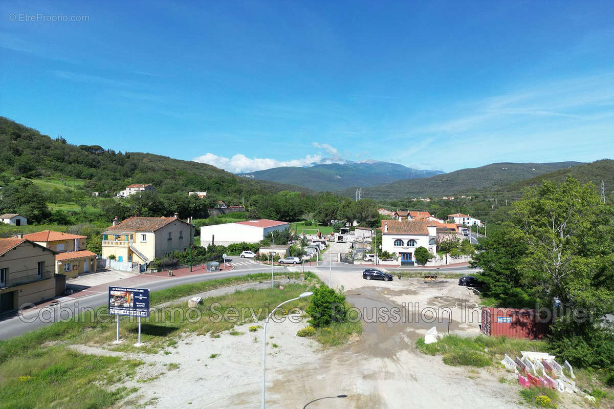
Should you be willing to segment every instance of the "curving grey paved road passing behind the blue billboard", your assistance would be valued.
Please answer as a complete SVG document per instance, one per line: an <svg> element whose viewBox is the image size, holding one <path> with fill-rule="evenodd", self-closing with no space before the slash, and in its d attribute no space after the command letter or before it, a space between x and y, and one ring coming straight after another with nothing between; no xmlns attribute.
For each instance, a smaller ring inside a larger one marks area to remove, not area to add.
<svg viewBox="0 0 614 409"><path fill-rule="evenodd" d="M243 276L249 273L259 273L266 270L271 271L270 267L263 270L262 266L257 265L249 268L235 268L228 272L206 273L187 277L160 278L159 280L152 277L152 281L147 281L146 285L143 287L149 288L151 291L157 291L191 282ZM279 272L287 270L284 267L275 267L274 271ZM21 316L6 317L0 321L0 340L16 337L22 333L60 321L60 319L70 319L75 314L79 314L84 308L97 308L98 306L106 305L107 297L107 293L103 292L74 298L72 300L64 299L63 302L55 305L49 305L43 308L31 308L24 311ZM61 317L59 316L60 310Z"/></svg>

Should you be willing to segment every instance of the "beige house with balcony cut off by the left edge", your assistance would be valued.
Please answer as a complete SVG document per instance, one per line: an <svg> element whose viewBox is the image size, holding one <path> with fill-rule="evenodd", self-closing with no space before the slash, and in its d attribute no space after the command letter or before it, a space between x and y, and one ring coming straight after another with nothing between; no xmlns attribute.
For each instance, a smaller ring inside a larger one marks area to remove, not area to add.
<svg viewBox="0 0 614 409"><path fill-rule="evenodd" d="M25 238L0 239L0 313L55 297L55 254Z"/></svg>

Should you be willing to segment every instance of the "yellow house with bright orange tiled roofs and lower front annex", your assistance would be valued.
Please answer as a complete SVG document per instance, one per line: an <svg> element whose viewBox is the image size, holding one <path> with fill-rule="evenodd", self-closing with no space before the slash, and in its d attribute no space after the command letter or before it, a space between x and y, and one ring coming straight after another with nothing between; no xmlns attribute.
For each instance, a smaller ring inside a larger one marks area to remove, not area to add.
<svg viewBox="0 0 614 409"><path fill-rule="evenodd" d="M23 238L58 253L55 256L56 274L75 278L82 273L96 271L96 253L85 249L87 236L44 230L23 235Z"/></svg>

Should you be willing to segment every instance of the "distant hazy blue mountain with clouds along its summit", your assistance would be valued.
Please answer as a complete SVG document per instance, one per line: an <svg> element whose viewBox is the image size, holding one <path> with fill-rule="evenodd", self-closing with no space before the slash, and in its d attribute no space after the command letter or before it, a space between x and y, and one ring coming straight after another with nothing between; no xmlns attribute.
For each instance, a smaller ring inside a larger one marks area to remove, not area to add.
<svg viewBox="0 0 614 409"><path fill-rule="evenodd" d="M349 162L307 168L284 166L255 171L243 176L300 185L319 192L335 192L351 186L373 186L398 179L429 177L441 171L408 168L388 162Z"/></svg>

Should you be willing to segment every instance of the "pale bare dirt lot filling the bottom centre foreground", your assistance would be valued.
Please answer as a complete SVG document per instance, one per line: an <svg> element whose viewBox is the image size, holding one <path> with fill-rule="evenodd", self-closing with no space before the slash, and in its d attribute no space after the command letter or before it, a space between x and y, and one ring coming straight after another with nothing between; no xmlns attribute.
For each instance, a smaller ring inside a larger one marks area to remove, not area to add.
<svg viewBox="0 0 614 409"><path fill-rule="evenodd" d="M328 275L321 277L328 279ZM450 332L476 334L478 323L460 324L462 303L475 305L476 295L454 280L424 283L396 278L392 282L365 281L360 273L333 275L333 286L343 286L358 308L391 308L402 303L420 308L449 307ZM499 369L450 367L441 357L426 356L414 341L442 323L373 321L367 313L364 333L351 345L322 349L314 340L296 336L304 322L271 322L267 329L267 405L302 408L517 408L518 386L500 383ZM380 320L378 320L380 321ZM384 320L385 321L385 320ZM190 336L166 348L166 353L134 354L144 360L133 386L140 388L139 403L151 407L257 408L262 381L262 329L223 333L220 338ZM275 344L276 346L274 346ZM105 350L81 347L88 353ZM219 354L213 356L212 354ZM178 365L178 367L177 367ZM131 386L131 385L126 385ZM134 400L134 396L133 396ZM123 406L134 406L133 400ZM192 406L193 405L193 406Z"/></svg>

